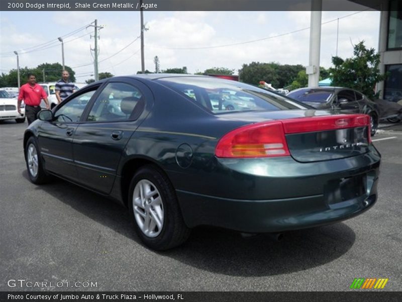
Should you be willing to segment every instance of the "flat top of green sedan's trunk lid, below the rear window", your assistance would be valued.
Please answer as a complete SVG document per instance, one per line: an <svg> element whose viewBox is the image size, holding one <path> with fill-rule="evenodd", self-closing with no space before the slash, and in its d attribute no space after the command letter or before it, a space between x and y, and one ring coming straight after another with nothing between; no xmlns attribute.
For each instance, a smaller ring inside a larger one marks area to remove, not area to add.
<svg viewBox="0 0 402 302"><path fill-rule="evenodd" d="M223 119L235 119L245 122L262 122L267 120L278 120L287 118L297 118L297 117L311 117L311 116L323 116L338 114L337 112L331 110L278 110L278 111L245 111L245 112L234 112L234 113L224 113L220 115Z"/></svg>

